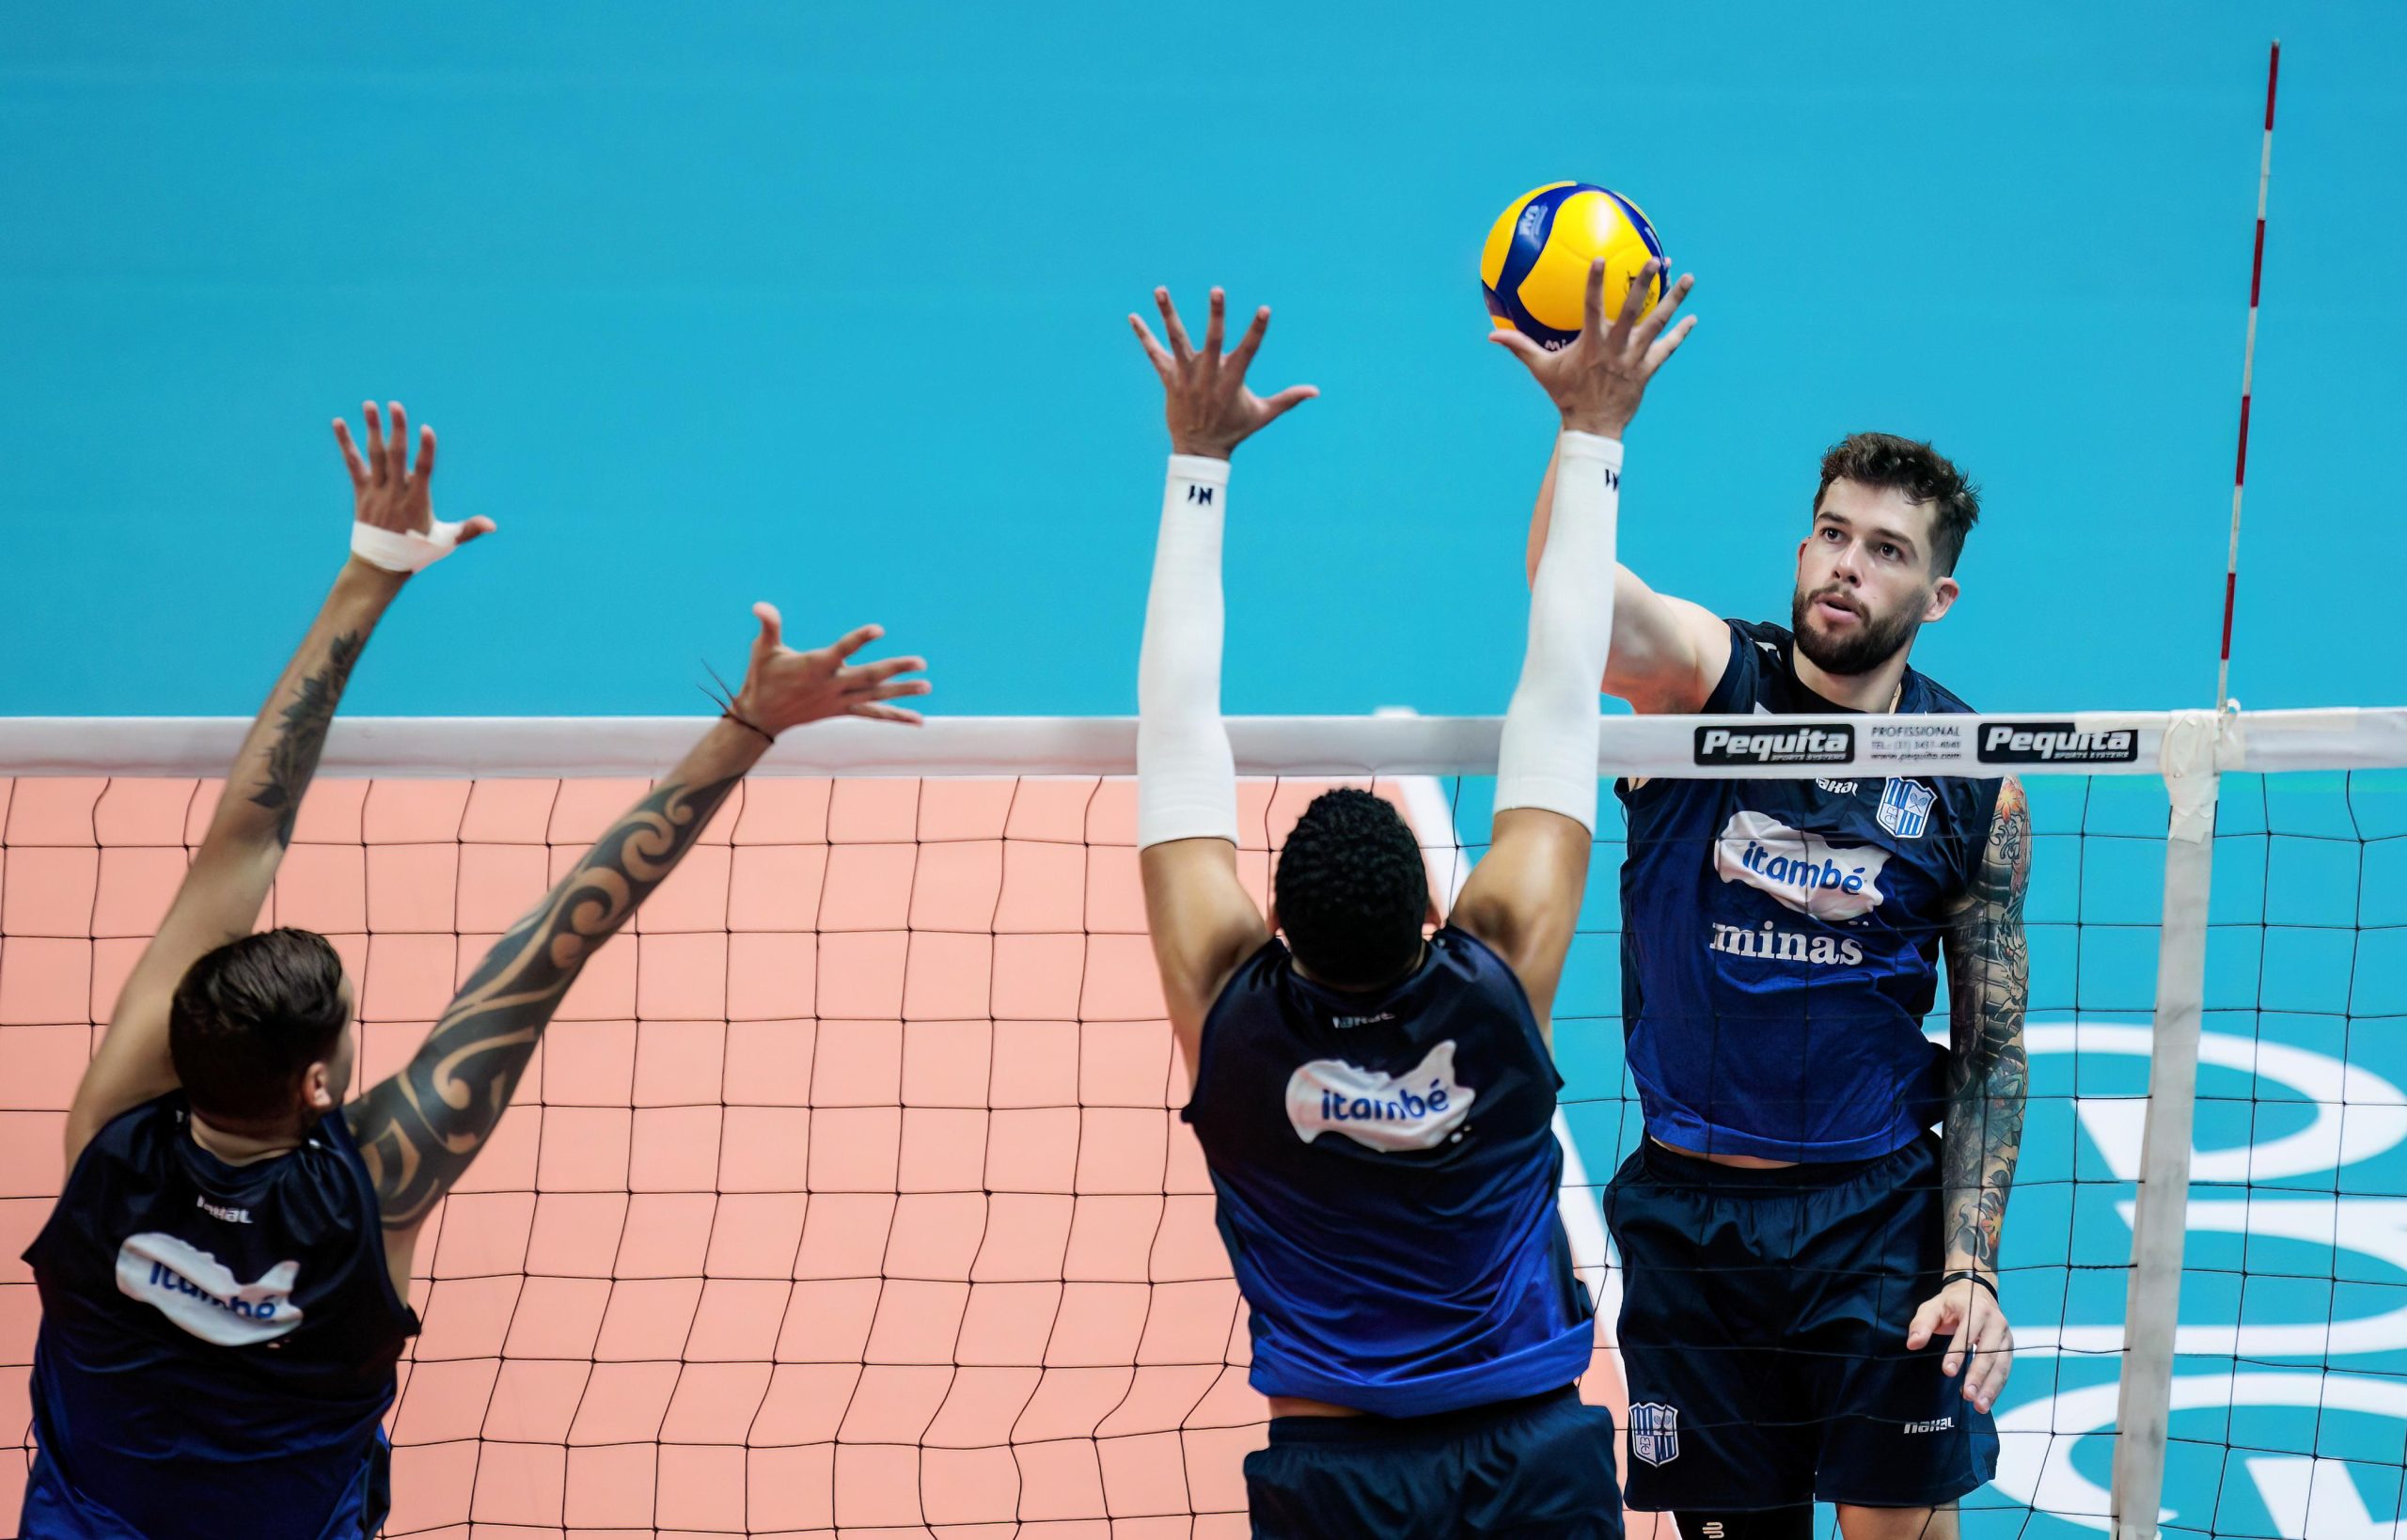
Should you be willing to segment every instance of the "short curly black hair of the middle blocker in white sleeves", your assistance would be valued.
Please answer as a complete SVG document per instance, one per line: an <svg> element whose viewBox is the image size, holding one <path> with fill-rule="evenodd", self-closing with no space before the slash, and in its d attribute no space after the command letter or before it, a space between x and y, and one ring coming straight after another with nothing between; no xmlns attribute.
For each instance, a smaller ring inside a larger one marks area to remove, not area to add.
<svg viewBox="0 0 2407 1540"><path fill-rule="evenodd" d="M1295 821L1273 876L1278 926L1314 979L1384 984L1420 953L1430 873L1396 808L1353 787L1321 792Z"/></svg>

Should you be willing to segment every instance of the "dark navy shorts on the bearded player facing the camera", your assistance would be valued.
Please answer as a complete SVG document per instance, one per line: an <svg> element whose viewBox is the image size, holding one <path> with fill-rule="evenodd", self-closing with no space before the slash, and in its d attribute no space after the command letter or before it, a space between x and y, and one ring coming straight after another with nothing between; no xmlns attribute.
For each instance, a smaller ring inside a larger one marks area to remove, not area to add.
<svg viewBox="0 0 2407 1540"><path fill-rule="evenodd" d="M1906 1352L1940 1290L1938 1138L1764 1172L1642 1138L1605 1189L1622 1258L1630 1506L1938 1506L1998 1473L1998 1429Z"/></svg>

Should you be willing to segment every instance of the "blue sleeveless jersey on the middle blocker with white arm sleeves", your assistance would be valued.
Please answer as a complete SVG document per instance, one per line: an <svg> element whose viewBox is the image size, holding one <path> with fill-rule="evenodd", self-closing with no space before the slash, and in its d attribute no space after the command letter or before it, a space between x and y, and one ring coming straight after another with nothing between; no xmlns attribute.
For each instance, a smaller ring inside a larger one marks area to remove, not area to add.
<svg viewBox="0 0 2407 1540"><path fill-rule="evenodd" d="M1418 1417L1574 1384L1591 1328L1555 1208L1560 1088L1521 982L1463 931L1377 994L1264 943L1204 1020L1184 1112L1254 1388Z"/></svg>

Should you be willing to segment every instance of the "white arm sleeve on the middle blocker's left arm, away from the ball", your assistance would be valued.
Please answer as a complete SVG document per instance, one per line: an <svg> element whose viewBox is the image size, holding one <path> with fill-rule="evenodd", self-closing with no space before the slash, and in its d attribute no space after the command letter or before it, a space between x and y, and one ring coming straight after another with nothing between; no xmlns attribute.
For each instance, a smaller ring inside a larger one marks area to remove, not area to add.
<svg viewBox="0 0 2407 1540"><path fill-rule="evenodd" d="M1228 460L1170 457L1136 659L1139 849L1170 840L1237 842L1237 756L1220 722L1225 508Z"/></svg>

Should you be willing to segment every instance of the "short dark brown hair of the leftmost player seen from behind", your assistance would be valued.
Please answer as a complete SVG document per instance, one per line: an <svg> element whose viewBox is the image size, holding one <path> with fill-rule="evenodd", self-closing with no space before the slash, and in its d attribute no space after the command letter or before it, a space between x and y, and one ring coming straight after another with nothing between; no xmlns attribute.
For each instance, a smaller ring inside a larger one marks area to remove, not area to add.
<svg viewBox="0 0 2407 1540"><path fill-rule="evenodd" d="M260 1124L291 1112L301 1071L349 1020L342 958L318 931L260 931L202 953L176 984L166 1047L193 1112Z"/></svg>

